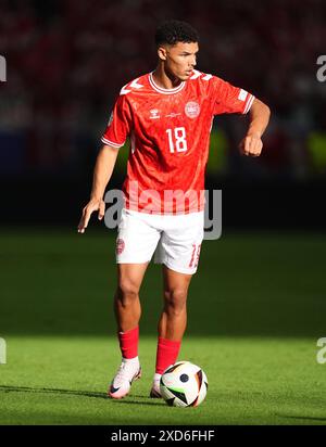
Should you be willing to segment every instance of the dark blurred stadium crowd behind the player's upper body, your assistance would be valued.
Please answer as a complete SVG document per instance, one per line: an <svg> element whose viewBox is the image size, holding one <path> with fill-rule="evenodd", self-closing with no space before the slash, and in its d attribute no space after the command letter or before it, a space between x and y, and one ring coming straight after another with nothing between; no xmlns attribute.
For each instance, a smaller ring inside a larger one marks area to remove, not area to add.
<svg viewBox="0 0 326 447"><path fill-rule="evenodd" d="M210 174L325 176L326 82L316 78L326 42L323 0L2 0L1 176L89 173L120 88L155 66L153 33L165 18L199 30L199 69L272 108L264 154L254 161L236 150L243 119L215 119Z"/></svg>

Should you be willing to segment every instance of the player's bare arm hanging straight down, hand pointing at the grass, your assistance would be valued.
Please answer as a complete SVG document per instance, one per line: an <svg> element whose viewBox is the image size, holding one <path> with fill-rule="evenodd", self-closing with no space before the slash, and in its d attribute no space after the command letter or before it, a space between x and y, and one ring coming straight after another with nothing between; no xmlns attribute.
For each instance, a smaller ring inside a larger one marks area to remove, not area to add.
<svg viewBox="0 0 326 447"><path fill-rule="evenodd" d="M90 200L88 204L83 208L82 218L78 225L78 233L85 232L90 216L93 212L99 212L99 220L101 220L104 216L105 204L103 201L103 195L106 184L109 183L112 176L117 153L118 150L108 144L103 144L99 152L93 169Z"/></svg>

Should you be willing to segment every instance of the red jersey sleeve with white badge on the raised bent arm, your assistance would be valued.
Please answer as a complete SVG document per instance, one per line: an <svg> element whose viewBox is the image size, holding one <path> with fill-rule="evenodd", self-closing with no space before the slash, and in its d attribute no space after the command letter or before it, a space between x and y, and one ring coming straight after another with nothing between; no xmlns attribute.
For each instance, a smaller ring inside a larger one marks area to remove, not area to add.
<svg viewBox="0 0 326 447"><path fill-rule="evenodd" d="M213 76L211 82L213 115L221 115L223 113L246 114L250 111L254 100L253 94L233 86L217 76Z"/></svg>

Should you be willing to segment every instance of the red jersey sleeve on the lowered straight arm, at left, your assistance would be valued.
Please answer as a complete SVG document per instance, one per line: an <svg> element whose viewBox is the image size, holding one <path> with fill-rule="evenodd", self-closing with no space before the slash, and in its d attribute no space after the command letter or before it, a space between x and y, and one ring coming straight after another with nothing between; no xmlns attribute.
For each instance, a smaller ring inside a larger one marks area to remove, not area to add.
<svg viewBox="0 0 326 447"><path fill-rule="evenodd" d="M106 129L101 138L102 143L120 149L125 144L130 132L131 114L125 95L120 95L114 104Z"/></svg>

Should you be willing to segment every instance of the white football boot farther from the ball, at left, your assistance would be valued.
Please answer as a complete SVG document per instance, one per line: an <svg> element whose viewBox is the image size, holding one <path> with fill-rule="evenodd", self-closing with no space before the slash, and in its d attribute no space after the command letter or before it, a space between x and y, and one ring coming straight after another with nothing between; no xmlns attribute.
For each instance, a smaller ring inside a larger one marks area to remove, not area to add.
<svg viewBox="0 0 326 447"><path fill-rule="evenodd" d="M125 397L129 391L131 383L140 379L141 367L138 357L133 359L122 359L122 363L111 382L110 388L108 391L108 396L113 399L121 399Z"/></svg>

